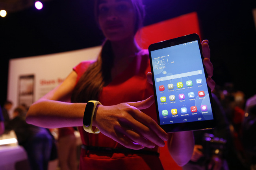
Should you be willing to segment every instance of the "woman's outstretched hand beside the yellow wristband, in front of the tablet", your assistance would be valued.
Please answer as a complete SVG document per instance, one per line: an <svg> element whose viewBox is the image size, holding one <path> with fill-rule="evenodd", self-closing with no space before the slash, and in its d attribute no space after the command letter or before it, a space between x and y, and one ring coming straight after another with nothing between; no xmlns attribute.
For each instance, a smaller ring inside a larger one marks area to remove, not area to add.
<svg viewBox="0 0 256 170"><path fill-rule="evenodd" d="M154 96L144 101L127 102L114 106L98 105L93 126L126 148L139 150L144 147L164 146L167 133L148 115L140 110L150 107Z"/></svg>

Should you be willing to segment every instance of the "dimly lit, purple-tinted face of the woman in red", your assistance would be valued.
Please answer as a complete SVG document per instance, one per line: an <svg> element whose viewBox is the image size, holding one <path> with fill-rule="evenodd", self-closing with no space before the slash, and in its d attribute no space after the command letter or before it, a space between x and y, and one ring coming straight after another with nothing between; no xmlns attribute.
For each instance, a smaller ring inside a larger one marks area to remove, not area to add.
<svg viewBox="0 0 256 170"><path fill-rule="evenodd" d="M99 0L98 22L110 41L134 37L134 8L130 0Z"/></svg>

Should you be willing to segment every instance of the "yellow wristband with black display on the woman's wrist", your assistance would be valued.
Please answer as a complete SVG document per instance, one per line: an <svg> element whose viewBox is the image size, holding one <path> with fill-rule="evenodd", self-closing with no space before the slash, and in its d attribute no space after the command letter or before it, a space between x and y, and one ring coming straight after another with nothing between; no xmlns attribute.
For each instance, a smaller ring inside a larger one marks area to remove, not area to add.
<svg viewBox="0 0 256 170"><path fill-rule="evenodd" d="M87 102L83 114L83 129L89 133L100 133L100 130L96 128L93 130L93 115L95 108L98 104L101 104L99 101L89 101Z"/></svg>

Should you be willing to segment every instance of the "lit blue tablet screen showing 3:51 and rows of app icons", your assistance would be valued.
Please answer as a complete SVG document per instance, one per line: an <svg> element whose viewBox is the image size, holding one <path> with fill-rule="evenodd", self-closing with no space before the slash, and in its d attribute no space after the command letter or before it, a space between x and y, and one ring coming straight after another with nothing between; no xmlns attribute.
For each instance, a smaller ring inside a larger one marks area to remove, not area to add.
<svg viewBox="0 0 256 170"><path fill-rule="evenodd" d="M150 53L160 124L213 119L198 41Z"/></svg>

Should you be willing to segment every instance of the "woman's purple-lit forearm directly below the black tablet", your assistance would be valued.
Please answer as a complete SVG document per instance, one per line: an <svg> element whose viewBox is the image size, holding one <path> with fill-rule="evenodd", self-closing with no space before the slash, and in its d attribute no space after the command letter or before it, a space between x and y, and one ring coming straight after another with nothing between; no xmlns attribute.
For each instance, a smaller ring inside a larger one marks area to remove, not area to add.
<svg viewBox="0 0 256 170"><path fill-rule="evenodd" d="M168 148L174 161L184 166L191 159L195 145L192 131L171 133Z"/></svg>

